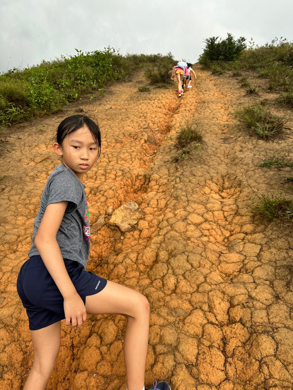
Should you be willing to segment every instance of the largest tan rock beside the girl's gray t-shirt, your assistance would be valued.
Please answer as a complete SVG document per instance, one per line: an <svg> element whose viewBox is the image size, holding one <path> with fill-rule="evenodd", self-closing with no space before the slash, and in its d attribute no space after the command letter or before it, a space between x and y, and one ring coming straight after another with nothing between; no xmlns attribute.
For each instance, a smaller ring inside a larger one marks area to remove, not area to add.
<svg viewBox="0 0 293 390"><path fill-rule="evenodd" d="M122 233L129 232L143 216L144 213L137 203L128 202L113 212L109 225L112 229L119 229Z"/></svg>

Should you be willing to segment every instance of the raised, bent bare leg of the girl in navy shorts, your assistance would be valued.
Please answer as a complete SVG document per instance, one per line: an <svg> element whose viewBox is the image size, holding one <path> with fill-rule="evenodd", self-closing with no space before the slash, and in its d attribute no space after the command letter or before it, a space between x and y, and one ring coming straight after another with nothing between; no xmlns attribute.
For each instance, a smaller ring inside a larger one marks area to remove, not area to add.
<svg viewBox="0 0 293 390"><path fill-rule="evenodd" d="M147 298L128 287L107 282L98 294L86 297L88 314L121 314L127 318L124 362L128 390L145 385L150 306Z"/></svg>

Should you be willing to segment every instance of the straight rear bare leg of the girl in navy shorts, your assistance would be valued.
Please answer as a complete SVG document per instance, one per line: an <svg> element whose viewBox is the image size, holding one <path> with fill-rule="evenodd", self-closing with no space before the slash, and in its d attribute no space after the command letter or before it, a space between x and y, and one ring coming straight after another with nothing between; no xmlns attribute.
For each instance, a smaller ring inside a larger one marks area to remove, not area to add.
<svg viewBox="0 0 293 390"><path fill-rule="evenodd" d="M58 358L60 321L39 330L31 330L34 362L23 390L45 390Z"/></svg>

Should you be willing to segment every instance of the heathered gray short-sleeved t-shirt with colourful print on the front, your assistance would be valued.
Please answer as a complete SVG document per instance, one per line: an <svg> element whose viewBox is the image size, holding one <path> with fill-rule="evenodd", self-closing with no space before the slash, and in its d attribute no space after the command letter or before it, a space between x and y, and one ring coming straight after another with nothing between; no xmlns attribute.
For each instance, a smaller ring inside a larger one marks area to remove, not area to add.
<svg viewBox="0 0 293 390"><path fill-rule="evenodd" d="M91 231L84 184L64 164L58 165L48 177L41 196L40 209L34 221L29 257L39 255L34 244L39 225L48 204L68 200L68 206L56 235L63 259L75 260L84 268L88 262Z"/></svg>

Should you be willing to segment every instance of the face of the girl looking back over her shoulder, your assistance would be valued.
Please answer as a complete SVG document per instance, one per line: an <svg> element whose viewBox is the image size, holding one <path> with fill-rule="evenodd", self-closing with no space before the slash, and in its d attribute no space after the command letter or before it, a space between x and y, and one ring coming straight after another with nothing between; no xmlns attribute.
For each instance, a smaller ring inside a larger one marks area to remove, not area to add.
<svg viewBox="0 0 293 390"><path fill-rule="evenodd" d="M53 148L62 156L65 167L71 169L80 181L95 164L99 153L98 145L86 126L67 135L61 146L55 142Z"/></svg>

